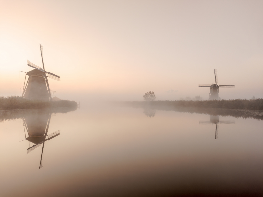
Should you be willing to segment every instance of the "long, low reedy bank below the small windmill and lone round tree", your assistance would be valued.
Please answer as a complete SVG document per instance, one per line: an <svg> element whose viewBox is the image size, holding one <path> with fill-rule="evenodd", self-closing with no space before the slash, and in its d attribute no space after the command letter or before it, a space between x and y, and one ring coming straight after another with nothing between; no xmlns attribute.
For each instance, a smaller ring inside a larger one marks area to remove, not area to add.
<svg viewBox="0 0 263 197"><path fill-rule="evenodd" d="M127 104L143 106L168 106L168 107L200 107L221 109L252 109L263 110L263 99L233 99L233 100L157 100L157 101L133 101Z"/></svg>

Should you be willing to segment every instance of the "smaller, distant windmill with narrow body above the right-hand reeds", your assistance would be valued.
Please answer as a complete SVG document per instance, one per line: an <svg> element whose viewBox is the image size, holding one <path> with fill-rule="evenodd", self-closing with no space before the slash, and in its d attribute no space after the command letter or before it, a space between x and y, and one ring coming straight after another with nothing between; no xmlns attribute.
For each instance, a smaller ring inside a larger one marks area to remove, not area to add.
<svg viewBox="0 0 263 197"><path fill-rule="evenodd" d="M235 88L235 85L218 85L217 70L214 70L214 73L215 73L215 84L213 83L212 85L199 84L198 87L209 87L210 88L208 100L221 100L218 95L219 88Z"/></svg>

